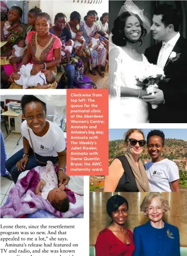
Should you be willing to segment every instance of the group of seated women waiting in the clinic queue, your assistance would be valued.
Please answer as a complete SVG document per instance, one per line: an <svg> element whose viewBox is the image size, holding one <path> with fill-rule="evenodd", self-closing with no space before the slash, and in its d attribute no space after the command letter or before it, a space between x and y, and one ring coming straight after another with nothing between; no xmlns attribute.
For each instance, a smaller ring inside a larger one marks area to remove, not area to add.
<svg viewBox="0 0 187 256"><path fill-rule="evenodd" d="M72 88L76 69L85 75L96 75L96 68L104 76L109 45L108 13L103 13L100 22L94 10L88 11L84 19L74 11L69 22L65 14L57 13L52 26L50 15L34 7L28 12L26 36L20 22L22 14L20 7L12 6L1 19L1 40L7 41L1 47L1 57L10 57L10 64L1 67L2 88L10 86L8 79L20 81L14 73L22 72L23 65L29 63L30 75L57 67L57 77L50 74L49 78L48 73L44 73L46 78L43 76L46 83L56 80L57 89Z"/></svg>

